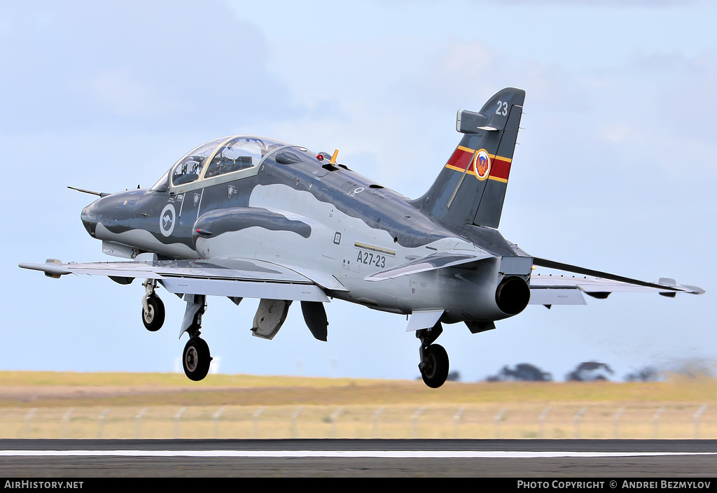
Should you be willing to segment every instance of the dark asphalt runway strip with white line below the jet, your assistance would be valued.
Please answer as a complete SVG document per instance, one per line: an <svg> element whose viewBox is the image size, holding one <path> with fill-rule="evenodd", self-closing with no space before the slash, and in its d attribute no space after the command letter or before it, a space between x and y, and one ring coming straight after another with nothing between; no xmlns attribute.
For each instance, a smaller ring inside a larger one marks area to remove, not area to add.
<svg viewBox="0 0 717 493"><path fill-rule="evenodd" d="M26 479L709 478L715 472L717 440L0 440L0 477Z"/></svg>

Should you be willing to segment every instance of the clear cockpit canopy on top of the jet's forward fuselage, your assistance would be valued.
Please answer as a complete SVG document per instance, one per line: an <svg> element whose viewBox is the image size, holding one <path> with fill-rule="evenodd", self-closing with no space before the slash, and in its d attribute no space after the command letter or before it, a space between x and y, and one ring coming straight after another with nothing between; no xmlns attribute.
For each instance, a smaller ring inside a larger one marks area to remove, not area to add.
<svg viewBox="0 0 717 493"><path fill-rule="evenodd" d="M172 186L180 186L255 168L268 153L290 146L290 143L281 140L251 135L234 135L210 140L186 153L152 189L166 190L168 179L171 179Z"/></svg>

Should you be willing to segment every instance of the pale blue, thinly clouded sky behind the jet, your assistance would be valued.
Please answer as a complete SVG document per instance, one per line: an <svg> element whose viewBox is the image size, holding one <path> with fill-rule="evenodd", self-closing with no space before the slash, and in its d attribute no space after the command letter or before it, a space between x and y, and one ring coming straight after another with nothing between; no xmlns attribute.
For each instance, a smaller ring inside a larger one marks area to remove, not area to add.
<svg viewBox="0 0 717 493"><path fill-rule="evenodd" d="M500 231L561 262L707 289L528 307L438 340L463 380L584 360L616 378L717 359L717 6L708 1L0 2L0 143L9 212L0 247L5 370L171 371L184 304L140 321L138 282L45 279L18 262L108 260L80 224L90 196L151 186L221 135L314 150L410 197L437 176L456 110L526 90ZM415 378L405 319L327 306L328 343L293 307L272 341L255 300L210 299L203 336L225 373ZM186 337L186 336L185 336Z"/></svg>

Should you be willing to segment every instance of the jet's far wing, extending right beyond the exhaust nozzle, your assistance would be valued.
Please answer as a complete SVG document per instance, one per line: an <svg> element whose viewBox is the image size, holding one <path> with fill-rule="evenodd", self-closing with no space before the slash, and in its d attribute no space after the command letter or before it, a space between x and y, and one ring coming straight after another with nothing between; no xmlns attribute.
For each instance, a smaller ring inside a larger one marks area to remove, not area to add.
<svg viewBox="0 0 717 493"><path fill-rule="evenodd" d="M664 277L658 282L645 282L547 259L533 258L533 264L584 276L533 274L531 305L585 305L582 293L596 298L607 298L613 292L657 292L668 297L673 297L678 292L693 295L705 292L699 287L678 284L675 279Z"/></svg>

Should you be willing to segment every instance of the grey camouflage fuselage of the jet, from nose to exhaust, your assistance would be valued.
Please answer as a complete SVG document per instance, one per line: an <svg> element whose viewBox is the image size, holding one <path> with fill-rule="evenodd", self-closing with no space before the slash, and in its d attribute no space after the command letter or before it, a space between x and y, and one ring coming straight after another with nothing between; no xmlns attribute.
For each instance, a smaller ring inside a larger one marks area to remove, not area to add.
<svg viewBox="0 0 717 493"><path fill-rule="evenodd" d="M130 256L259 259L295 269L330 297L402 314L440 308L445 322L515 315L524 305L501 310L499 286L508 277L527 285L530 276L530 262L504 260L526 257L497 230L442 224L326 155L250 136L196 148L152 188L90 204L82 222L91 236L128 247ZM366 280L436 252L490 257Z"/></svg>

